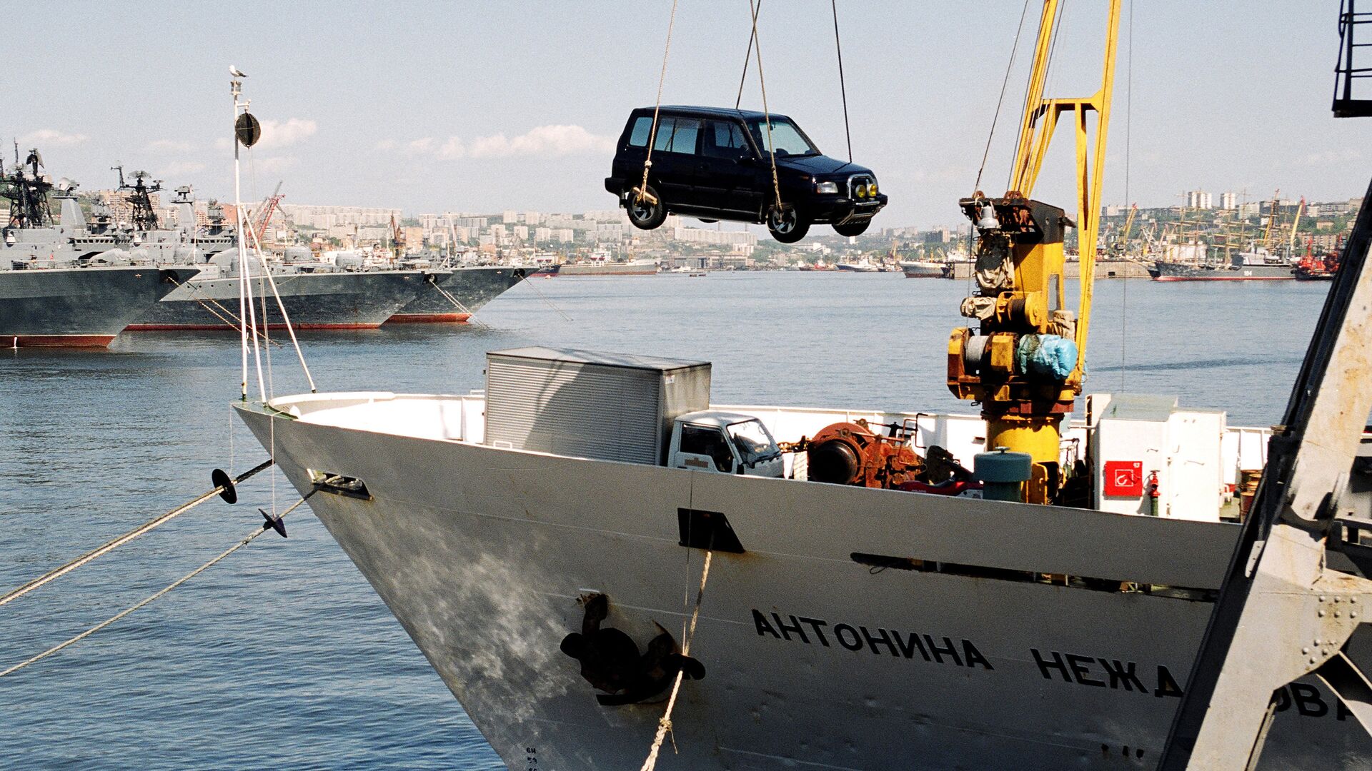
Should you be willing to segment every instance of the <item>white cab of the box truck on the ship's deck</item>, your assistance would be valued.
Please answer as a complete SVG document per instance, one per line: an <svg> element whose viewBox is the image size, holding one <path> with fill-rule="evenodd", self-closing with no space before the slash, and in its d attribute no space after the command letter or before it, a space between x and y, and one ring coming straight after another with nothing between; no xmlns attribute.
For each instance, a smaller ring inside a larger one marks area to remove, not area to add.
<svg viewBox="0 0 1372 771"><path fill-rule="evenodd" d="M668 468L785 476L781 449L753 416L719 410L686 413L672 421Z"/></svg>

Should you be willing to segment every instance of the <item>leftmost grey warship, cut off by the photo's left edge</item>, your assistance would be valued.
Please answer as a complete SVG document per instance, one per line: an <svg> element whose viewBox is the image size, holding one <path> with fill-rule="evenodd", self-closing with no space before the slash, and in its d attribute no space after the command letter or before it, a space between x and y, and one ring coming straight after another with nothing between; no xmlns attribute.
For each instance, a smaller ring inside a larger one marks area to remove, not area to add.
<svg viewBox="0 0 1372 771"><path fill-rule="evenodd" d="M49 196L62 200L54 220ZM103 347L132 320L189 280L193 268L130 261L111 239L89 239L75 184L54 185L37 150L5 173L10 217L0 247L0 344Z"/></svg>

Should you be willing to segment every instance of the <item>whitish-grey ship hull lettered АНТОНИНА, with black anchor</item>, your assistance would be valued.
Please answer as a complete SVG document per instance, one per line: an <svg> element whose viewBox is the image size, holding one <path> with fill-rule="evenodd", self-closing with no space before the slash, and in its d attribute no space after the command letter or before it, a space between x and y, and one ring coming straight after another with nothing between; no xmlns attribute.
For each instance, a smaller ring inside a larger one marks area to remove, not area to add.
<svg viewBox="0 0 1372 771"><path fill-rule="evenodd" d="M560 650L578 600L643 649L679 643L722 512L659 768L1151 768L1238 527L589 461L480 444L482 403L292 396L239 412L510 768L637 768L661 700L605 707ZM403 427L399 428L399 427ZM406 435L394 434L403 431ZM462 442L461 438L471 442ZM855 554L941 562L878 568ZM1104 579L1095 587L1040 573ZM1106 583L1190 587L1188 597ZM1354 643L1357 643L1357 638ZM1283 701L1284 700L1284 701ZM1264 768L1365 767L1313 680L1279 698Z"/></svg>

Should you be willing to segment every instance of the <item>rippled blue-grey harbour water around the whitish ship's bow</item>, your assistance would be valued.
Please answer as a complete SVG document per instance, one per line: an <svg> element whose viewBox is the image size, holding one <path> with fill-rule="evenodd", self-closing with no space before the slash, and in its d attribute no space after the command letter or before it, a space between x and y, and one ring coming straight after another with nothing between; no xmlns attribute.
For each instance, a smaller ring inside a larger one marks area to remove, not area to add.
<svg viewBox="0 0 1372 771"><path fill-rule="evenodd" d="M1328 284L1100 281L1088 391L1179 394L1280 420ZM966 410L944 386L962 283L716 273L516 287L482 324L303 333L321 391L465 392L487 350L709 359L724 403ZM565 317L564 317L565 314ZM273 347L276 394L303 391ZM0 351L0 591L265 458L228 403L237 337L123 335ZM0 608L0 668L189 572L295 498L262 473ZM498 768L418 649L305 510L158 602L0 679L10 768Z"/></svg>

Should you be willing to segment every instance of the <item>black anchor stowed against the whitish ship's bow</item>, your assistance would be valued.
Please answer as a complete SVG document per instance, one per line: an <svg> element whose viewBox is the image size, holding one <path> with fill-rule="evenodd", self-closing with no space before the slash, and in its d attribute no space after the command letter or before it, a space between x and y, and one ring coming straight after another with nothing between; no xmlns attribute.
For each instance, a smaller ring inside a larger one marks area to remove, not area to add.
<svg viewBox="0 0 1372 771"><path fill-rule="evenodd" d="M663 693L672 683L676 672L687 679L705 676L705 667L676 653L676 641L671 632L654 623L659 634L648 642L648 650L638 652L638 643L623 630L601 627L609 615L609 598L594 594L586 600L586 616L582 631L563 638L563 653L582 664L582 678L605 691L595 694L595 701L605 707L639 704Z"/></svg>

